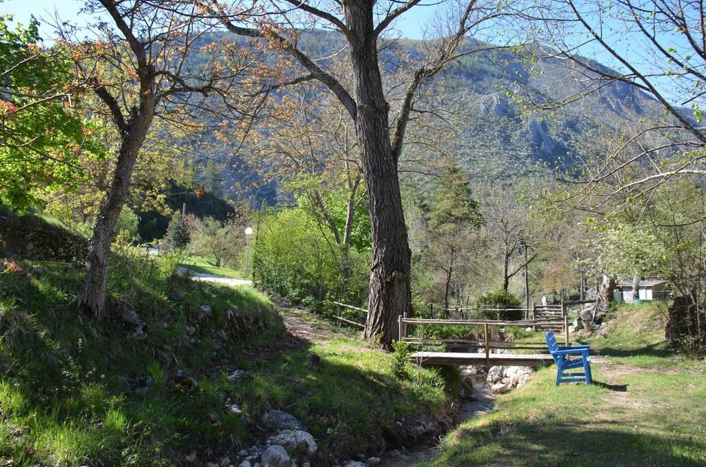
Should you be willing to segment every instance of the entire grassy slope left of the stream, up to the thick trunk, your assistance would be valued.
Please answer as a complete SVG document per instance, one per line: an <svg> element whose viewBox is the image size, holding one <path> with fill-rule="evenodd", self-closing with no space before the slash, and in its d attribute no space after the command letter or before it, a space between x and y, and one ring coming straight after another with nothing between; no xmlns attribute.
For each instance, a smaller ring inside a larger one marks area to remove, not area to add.
<svg viewBox="0 0 706 467"><path fill-rule="evenodd" d="M282 317L260 293L189 281L174 274L169 255L114 255L100 322L74 308L79 265L18 264L21 272L0 274L0 459L174 465L192 449L200 461L220 459L263 436L261 416L281 408L309 427L331 461L374 454L383 428L398 420L448 418L436 372L395 380L392 357L352 335L284 336ZM201 315L203 304L213 315ZM145 339L126 339L114 318L126 309L146 322ZM197 328L193 341L185 325ZM320 363L311 365L311 353ZM198 389L175 392L168 372L176 369ZM236 369L253 379L228 382ZM145 376L155 381L147 394L126 389L127 377Z"/></svg>

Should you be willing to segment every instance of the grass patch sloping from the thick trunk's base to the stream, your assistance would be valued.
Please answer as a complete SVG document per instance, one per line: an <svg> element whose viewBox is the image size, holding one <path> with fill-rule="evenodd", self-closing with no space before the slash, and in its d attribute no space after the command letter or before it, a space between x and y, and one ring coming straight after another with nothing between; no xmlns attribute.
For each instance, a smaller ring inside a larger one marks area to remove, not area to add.
<svg viewBox="0 0 706 467"><path fill-rule="evenodd" d="M316 365L313 354L321 358ZM319 444L349 459L384 449L383 431L395 432L398 421L434 423L449 417L448 375L413 370L409 380L397 380L391 365L390 354L333 336L239 361L237 367L251 370L254 378L233 390L251 418L273 406L291 411Z"/></svg>

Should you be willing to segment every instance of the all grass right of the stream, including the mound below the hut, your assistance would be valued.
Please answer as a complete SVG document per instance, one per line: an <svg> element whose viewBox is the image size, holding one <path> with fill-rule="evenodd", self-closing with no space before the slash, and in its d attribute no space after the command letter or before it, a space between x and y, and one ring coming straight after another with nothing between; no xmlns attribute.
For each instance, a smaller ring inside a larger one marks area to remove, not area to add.
<svg viewBox="0 0 706 467"><path fill-rule="evenodd" d="M666 348L654 305L615 318L607 338L587 339L604 356L594 380L607 386L555 387L556 368L540 370L448 435L431 464L706 464L706 365Z"/></svg>

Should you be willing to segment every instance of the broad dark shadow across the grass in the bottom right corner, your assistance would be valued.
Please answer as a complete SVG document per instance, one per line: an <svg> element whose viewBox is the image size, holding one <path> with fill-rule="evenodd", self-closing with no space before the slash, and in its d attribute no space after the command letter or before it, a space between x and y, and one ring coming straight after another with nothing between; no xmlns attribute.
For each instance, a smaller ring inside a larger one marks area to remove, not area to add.
<svg viewBox="0 0 706 467"><path fill-rule="evenodd" d="M638 433L614 421L494 423L461 436L439 465L706 465L698 440Z"/></svg>

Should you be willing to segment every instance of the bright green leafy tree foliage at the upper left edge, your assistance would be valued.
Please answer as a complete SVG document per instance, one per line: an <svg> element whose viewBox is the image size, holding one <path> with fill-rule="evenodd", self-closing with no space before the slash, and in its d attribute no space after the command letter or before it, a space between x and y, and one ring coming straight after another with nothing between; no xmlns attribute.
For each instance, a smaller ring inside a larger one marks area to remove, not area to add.
<svg viewBox="0 0 706 467"><path fill-rule="evenodd" d="M88 181L85 159L102 158L97 127L71 109L67 50L38 45L37 20L14 30L0 16L0 202L22 209L43 190L76 190Z"/></svg>

